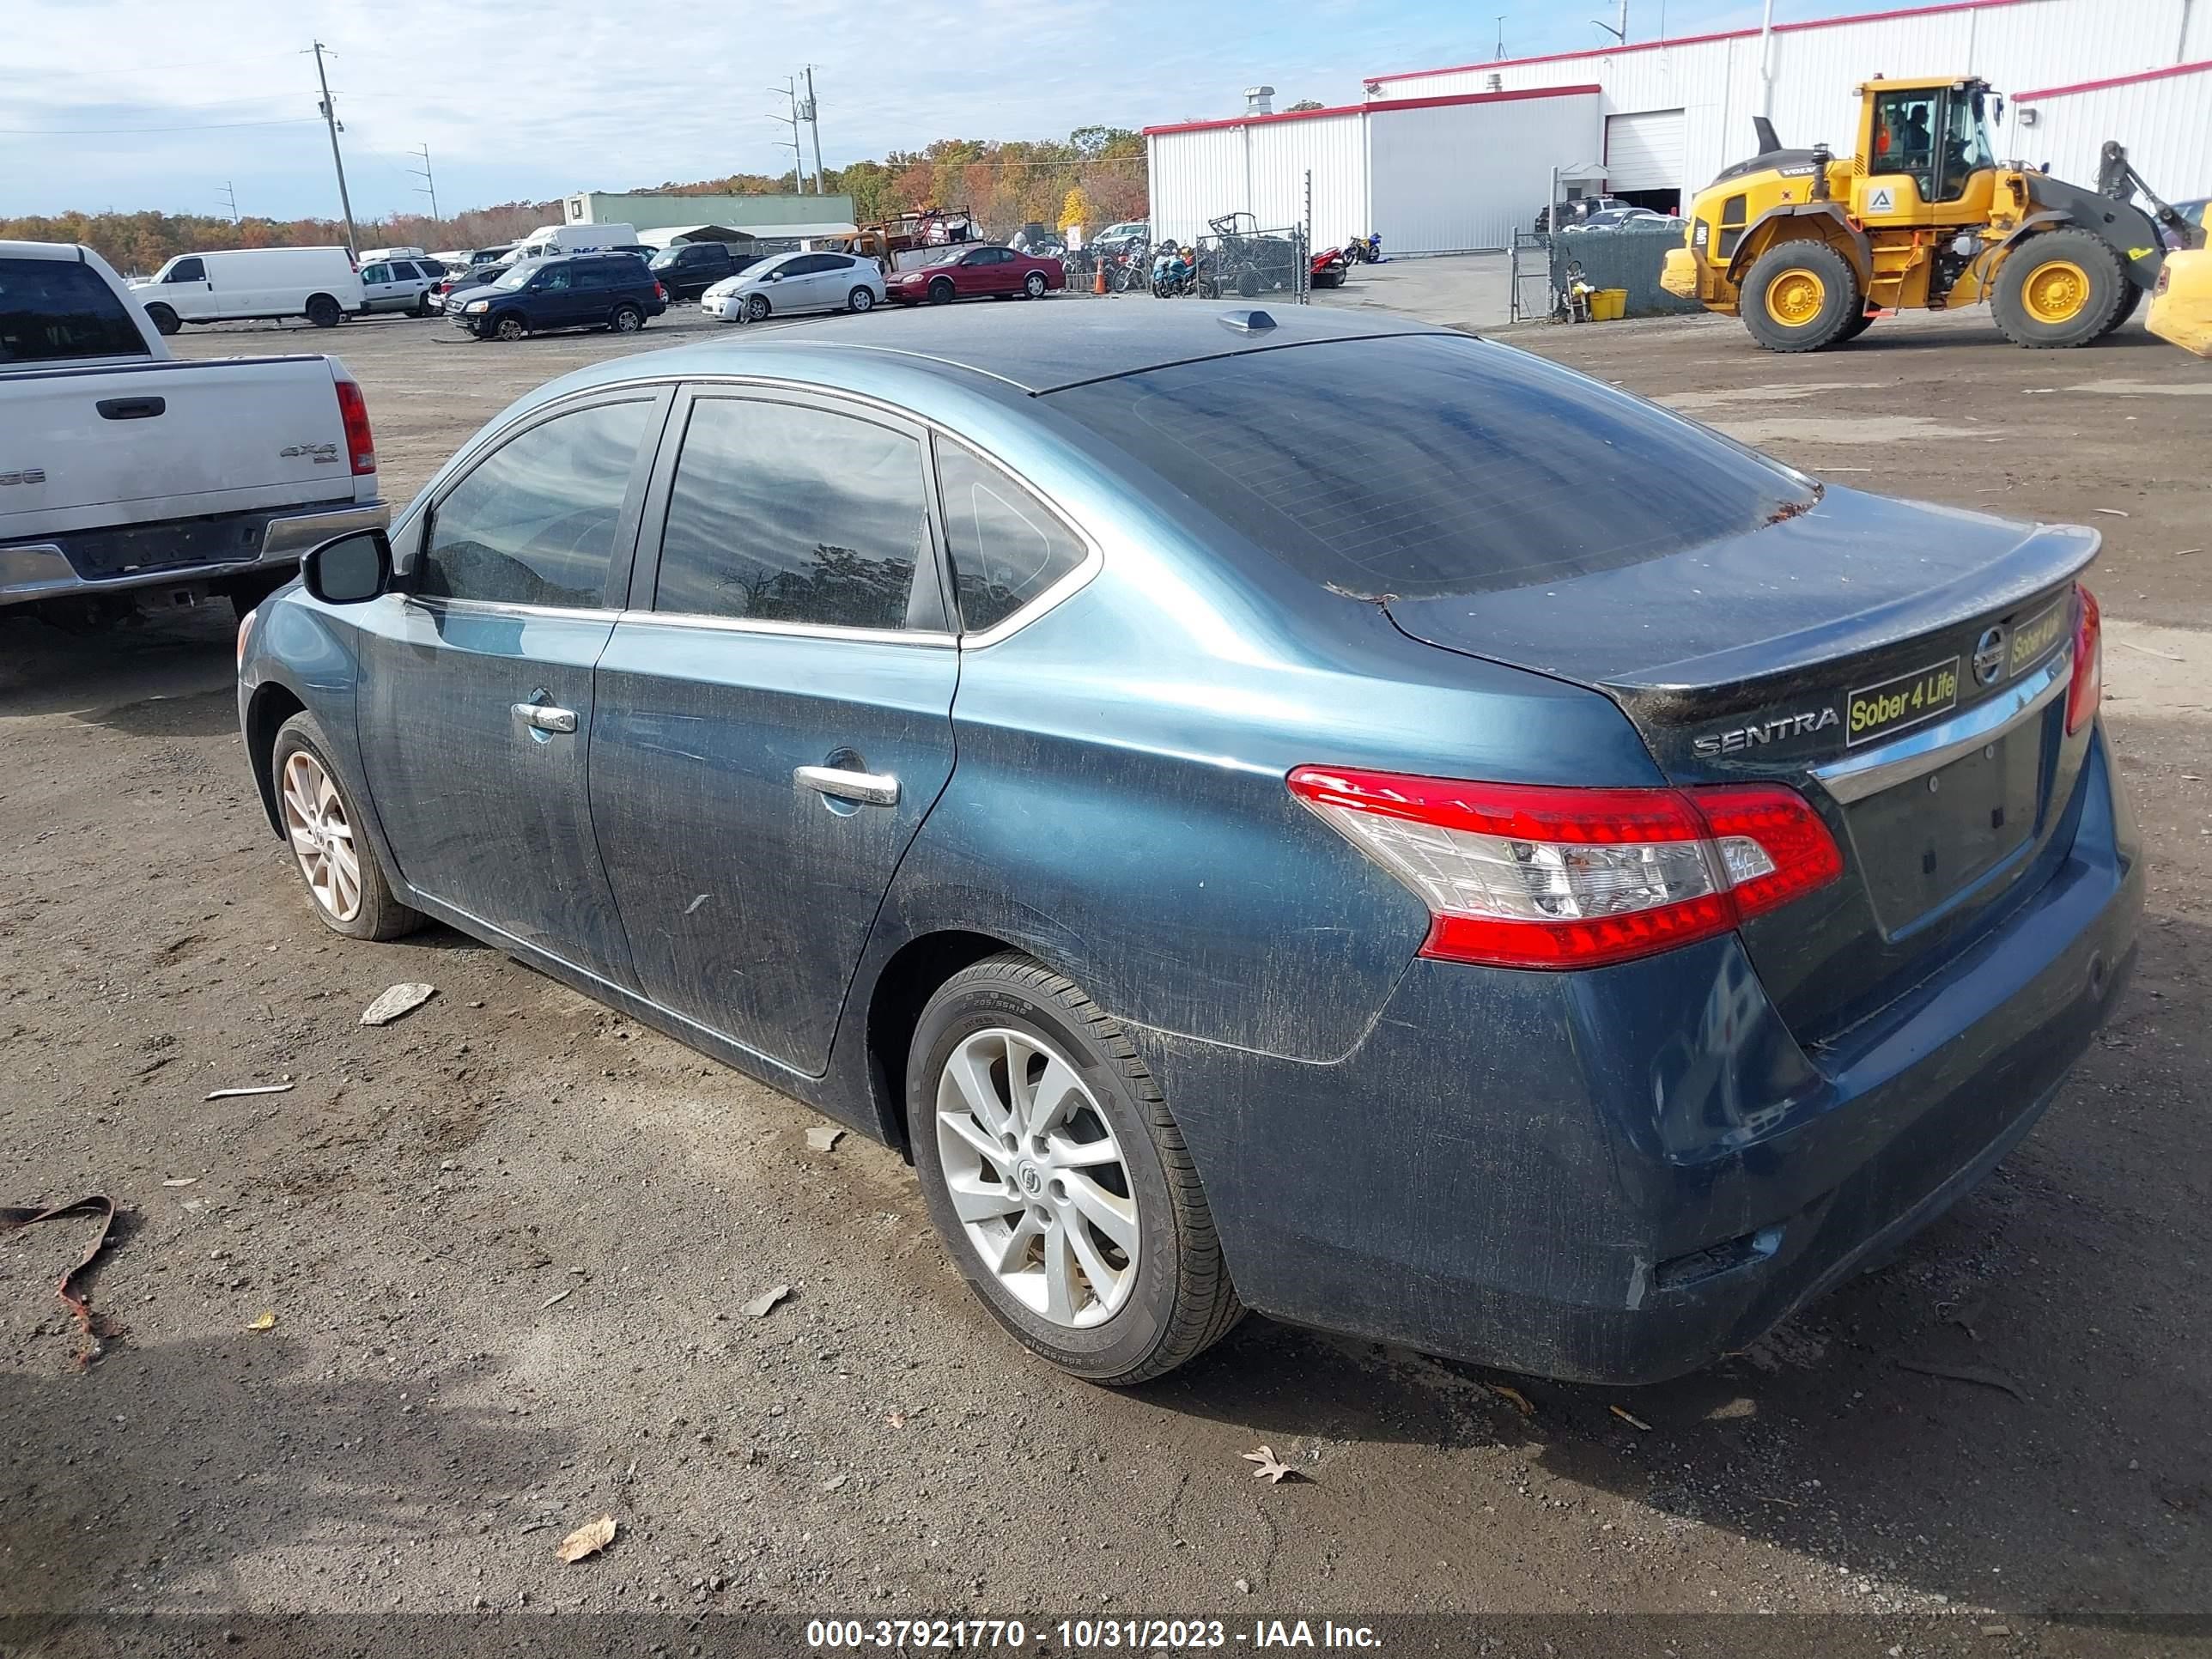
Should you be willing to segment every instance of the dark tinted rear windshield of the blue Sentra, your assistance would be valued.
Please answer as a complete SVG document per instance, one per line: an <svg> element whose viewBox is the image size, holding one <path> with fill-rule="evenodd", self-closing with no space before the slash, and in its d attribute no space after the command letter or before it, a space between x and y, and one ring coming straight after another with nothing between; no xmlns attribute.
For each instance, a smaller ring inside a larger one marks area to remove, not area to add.
<svg viewBox="0 0 2212 1659"><path fill-rule="evenodd" d="M1298 575L1363 599L1610 571L1818 498L1666 409L1444 334L1206 358L1051 403Z"/></svg>

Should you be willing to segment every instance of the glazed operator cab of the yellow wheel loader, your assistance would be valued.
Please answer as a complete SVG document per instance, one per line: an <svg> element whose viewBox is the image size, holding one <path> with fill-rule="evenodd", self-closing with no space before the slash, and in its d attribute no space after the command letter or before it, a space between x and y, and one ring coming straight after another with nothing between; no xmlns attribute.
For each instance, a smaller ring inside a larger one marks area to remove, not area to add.
<svg viewBox="0 0 2212 1659"><path fill-rule="evenodd" d="M1971 223L1989 215L2004 100L1986 82L1867 82L1858 88L1851 217L1869 230Z"/></svg>

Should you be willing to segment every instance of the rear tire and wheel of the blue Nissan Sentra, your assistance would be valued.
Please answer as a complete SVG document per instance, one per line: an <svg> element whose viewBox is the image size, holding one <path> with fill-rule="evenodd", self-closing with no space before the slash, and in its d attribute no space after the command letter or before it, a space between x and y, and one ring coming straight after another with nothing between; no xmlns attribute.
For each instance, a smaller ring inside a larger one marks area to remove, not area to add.
<svg viewBox="0 0 2212 1659"><path fill-rule="evenodd" d="M907 1053L907 1128L969 1287L1060 1369L1148 1383L1243 1316L1159 1086L1073 980L1013 951L947 980Z"/></svg>

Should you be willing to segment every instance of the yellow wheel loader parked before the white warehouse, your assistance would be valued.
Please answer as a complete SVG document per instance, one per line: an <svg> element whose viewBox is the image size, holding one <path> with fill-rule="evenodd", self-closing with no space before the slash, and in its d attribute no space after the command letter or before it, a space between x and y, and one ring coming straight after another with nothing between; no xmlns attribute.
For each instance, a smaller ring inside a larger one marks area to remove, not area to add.
<svg viewBox="0 0 2212 1659"><path fill-rule="evenodd" d="M1980 80L1874 80L1849 157L1785 150L1756 117L1761 153L1697 197L1661 285L1741 316L1770 352L1851 341L1876 312L1984 299L2013 345L2110 334L2159 281L2166 232L2179 246L2201 232L2119 144L2104 146L2095 190L2000 164L1989 122L2002 113Z"/></svg>

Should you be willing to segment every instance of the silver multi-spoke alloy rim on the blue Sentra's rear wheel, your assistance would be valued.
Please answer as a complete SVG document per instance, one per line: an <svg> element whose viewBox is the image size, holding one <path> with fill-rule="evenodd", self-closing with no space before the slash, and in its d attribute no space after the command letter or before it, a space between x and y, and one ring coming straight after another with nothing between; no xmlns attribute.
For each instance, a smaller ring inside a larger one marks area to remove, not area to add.
<svg viewBox="0 0 2212 1659"><path fill-rule="evenodd" d="M1022 1307L1104 1325L1137 1285L1137 1201L1121 1144L1044 1037L993 1026L938 1075L938 1161L960 1230Z"/></svg>

